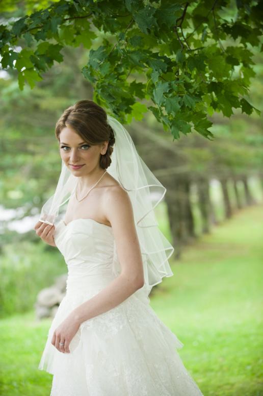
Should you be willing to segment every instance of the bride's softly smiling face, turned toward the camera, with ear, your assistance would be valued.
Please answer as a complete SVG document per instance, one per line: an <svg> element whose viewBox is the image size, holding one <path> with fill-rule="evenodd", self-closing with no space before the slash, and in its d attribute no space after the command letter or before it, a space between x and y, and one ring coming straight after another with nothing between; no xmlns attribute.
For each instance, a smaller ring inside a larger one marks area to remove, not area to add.
<svg viewBox="0 0 263 396"><path fill-rule="evenodd" d="M108 140L91 146L70 127L61 130L59 141L61 158L75 176L99 167L100 154L106 153L108 146Z"/></svg>

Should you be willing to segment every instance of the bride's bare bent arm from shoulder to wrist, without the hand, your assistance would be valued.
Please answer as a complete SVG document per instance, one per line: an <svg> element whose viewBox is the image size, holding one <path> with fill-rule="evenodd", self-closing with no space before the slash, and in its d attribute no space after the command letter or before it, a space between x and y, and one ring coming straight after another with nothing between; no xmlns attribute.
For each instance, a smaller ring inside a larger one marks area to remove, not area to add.
<svg viewBox="0 0 263 396"><path fill-rule="evenodd" d="M103 207L109 208L107 218L113 229L121 273L98 294L70 313L79 325L116 307L144 285L142 255L128 193L118 187L106 195Z"/></svg>

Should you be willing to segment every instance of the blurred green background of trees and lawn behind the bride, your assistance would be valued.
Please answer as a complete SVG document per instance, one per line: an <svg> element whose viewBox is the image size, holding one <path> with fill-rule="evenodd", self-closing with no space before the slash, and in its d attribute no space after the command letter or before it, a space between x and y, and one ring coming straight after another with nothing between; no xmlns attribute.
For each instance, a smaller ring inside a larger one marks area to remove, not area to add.
<svg viewBox="0 0 263 396"><path fill-rule="evenodd" d="M35 233L61 171L55 124L93 99L80 73L87 50L66 47L64 62L31 90L0 70L0 394L47 395L37 369L67 273L57 248ZM254 53L250 97L262 109L262 55ZM211 117L215 135L172 141L149 114L126 129L167 188L155 208L175 248L174 276L153 288L151 306L185 344L185 365L205 395L261 395L263 264L262 117L234 110ZM161 396L161 395L160 395Z"/></svg>

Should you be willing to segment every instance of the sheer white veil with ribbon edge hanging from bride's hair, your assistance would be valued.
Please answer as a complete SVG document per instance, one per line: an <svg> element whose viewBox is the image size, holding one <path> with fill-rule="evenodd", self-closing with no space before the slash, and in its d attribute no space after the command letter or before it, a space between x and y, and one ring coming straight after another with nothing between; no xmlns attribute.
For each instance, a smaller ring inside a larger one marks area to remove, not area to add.
<svg viewBox="0 0 263 396"><path fill-rule="evenodd" d="M162 201L166 188L141 159L133 140L121 123L110 115L107 121L115 136L112 162L107 172L128 192L133 205L144 267L143 289L148 295L154 285L162 282L163 277L173 275L168 259L173 254L174 248L159 229L153 211ZM76 182L77 177L71 174L62 161L56 191L43 205L40 221L56 225L60 207L69 200Z"/></svg>

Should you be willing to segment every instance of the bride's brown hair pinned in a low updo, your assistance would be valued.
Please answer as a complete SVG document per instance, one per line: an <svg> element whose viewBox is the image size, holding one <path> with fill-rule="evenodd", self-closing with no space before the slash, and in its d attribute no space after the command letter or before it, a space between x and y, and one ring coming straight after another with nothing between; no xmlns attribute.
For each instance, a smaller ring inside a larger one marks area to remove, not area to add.
<svg viewBox="0 0 263 396"><path fill-rule="evenodd" d="M107 113L102 107L89 100L76 102L64 110L56 123L55 134L58 140L60 132L67 126L74 129L90 145L109 140L108 149L105 154L101 154L99 165L102 169L110 166L115 136L107 122Z"/></svg>

